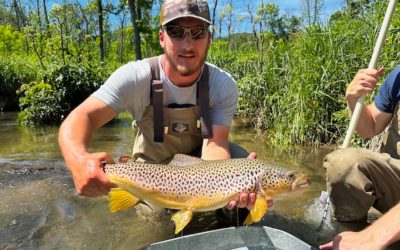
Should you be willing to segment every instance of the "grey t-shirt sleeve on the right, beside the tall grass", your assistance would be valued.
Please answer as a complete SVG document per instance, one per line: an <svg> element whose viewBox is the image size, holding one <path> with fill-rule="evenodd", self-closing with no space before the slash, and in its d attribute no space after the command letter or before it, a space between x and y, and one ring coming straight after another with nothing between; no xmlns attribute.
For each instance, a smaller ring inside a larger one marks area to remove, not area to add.
<svg viewBox="0 0 400 250"><path fill-rule="evenodd" d="M214 67L210 74L210 117L213 124L230 127L236 113L238 88L226 72Z"/></svg>

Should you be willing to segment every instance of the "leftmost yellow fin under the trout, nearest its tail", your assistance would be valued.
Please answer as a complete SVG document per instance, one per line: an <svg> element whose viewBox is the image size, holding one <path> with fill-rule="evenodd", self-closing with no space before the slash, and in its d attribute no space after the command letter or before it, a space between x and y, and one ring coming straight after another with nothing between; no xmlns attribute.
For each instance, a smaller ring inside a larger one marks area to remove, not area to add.
<svg viewBox="0 0 400 250"><path fill-rule="evenodd" d="M108 194L110 200L110 211L119 212L134 207L139 199L123 188L111 188Z"/></svg>

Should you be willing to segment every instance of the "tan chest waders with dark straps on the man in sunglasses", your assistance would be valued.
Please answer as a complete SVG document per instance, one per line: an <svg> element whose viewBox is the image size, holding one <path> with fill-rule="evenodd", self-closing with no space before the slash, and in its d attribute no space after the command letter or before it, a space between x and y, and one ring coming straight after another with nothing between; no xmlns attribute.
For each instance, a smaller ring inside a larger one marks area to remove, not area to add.
<svg viewBox="0 0 400 250"><path fill-rule="evenodd" d="M196 105L170 104L164 107L163 84L160 80L159 57L149 58L151 68L150 105L136 129L133 158L143 162L163 162L174 154L190 154L212 138L209 106L208 66L204 66L197 83Z"/></svg>

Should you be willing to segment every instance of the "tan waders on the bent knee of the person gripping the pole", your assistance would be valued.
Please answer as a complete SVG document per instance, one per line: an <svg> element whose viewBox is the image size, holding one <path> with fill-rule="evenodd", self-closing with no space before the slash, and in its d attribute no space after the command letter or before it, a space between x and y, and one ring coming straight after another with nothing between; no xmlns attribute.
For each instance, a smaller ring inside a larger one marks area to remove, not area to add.
<svg viewBox="0 0 400 250"><path fill-rule="evenodd" d="M381 213L400 202L399 104L371 149L345 148L328 154L323 167L334 219L365 222L374 207Z"/></svg>

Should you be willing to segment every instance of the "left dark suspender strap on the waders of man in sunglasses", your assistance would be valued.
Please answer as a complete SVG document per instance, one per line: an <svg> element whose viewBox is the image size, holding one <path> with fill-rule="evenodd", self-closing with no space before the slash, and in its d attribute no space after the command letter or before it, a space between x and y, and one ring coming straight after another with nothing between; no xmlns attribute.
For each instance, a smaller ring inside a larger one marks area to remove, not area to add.
<svg viewBox="0 0 400 250"><path fill-rule="evenodd" d="M163 86L160 81L158 56L149 58L151 68L150 102L153 105L154 142L164 141Z"/></svg>

